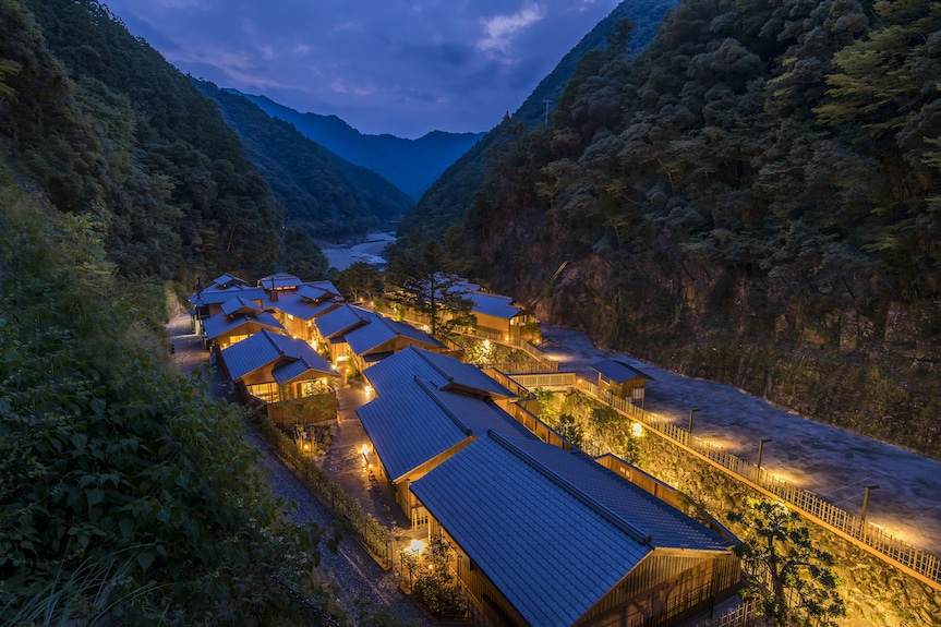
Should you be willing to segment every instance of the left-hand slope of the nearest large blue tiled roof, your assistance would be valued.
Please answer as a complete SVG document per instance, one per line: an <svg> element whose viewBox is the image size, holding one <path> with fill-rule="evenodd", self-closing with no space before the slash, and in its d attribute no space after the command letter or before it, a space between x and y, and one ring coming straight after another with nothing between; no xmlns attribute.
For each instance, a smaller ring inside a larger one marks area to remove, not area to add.
<svg viewBox="0 0 941 627"><path fill-rule="evenodd" d="M567 627L652 548L520 442L491 432L411 490L527 623Z"/></svg>

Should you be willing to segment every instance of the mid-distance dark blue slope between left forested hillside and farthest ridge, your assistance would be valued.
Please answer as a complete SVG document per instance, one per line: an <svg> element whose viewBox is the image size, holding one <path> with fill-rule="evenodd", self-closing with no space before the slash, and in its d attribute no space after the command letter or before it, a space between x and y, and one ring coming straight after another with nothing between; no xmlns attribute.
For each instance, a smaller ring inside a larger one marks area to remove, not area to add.
<svg viewBox="0 0 941 627"><path fill-rule="evenodd" d="M395 185L354 166L302 135L289 122L270 118L250 99L212 83L193 84L219 107L258 172L285 207L285 225L313 237L363 234L399 218L413 204Z"/></svg>

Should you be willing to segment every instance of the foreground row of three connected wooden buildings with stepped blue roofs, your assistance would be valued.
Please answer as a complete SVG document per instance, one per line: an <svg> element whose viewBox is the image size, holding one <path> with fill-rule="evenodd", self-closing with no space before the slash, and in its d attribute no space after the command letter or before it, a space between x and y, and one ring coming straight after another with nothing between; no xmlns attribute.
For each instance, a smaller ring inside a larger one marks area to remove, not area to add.
<svg viewBox="0 0 941 627"><path fill-rule="evenodd" d="M739 582L735 539L542 442L481 371L415 348L366 372L379 474L497 627L678 625ZM724 530L721 530L724 531Z"/></svg>

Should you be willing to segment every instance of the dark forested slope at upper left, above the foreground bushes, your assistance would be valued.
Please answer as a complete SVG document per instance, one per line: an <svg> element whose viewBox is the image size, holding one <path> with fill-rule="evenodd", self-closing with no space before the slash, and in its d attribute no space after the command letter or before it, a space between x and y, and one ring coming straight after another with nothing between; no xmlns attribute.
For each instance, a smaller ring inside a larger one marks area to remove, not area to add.
<svg viewBox="0 0 941 627"><path fill-rule="evenodd" d="M123 275L190 285L273 269L281 208L156 50L95 0L3 0L0 33L0 67L19 69L0 141L56 207L92 217Z"/></svg>

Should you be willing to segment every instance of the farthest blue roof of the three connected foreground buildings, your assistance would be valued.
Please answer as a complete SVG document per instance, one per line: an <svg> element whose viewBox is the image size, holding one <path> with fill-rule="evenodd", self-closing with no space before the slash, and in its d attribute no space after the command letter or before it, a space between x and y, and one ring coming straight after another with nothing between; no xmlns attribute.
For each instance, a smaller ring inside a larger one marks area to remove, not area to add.
<svg viewBox="0 0 941 627"><path fill-rule="evenodd" d="M441 389L474 396L509 398L514 394L474 365L453 357L410 346L382 363L364 371L378 395L395 389L413 378L431 383Z"/></svg>

